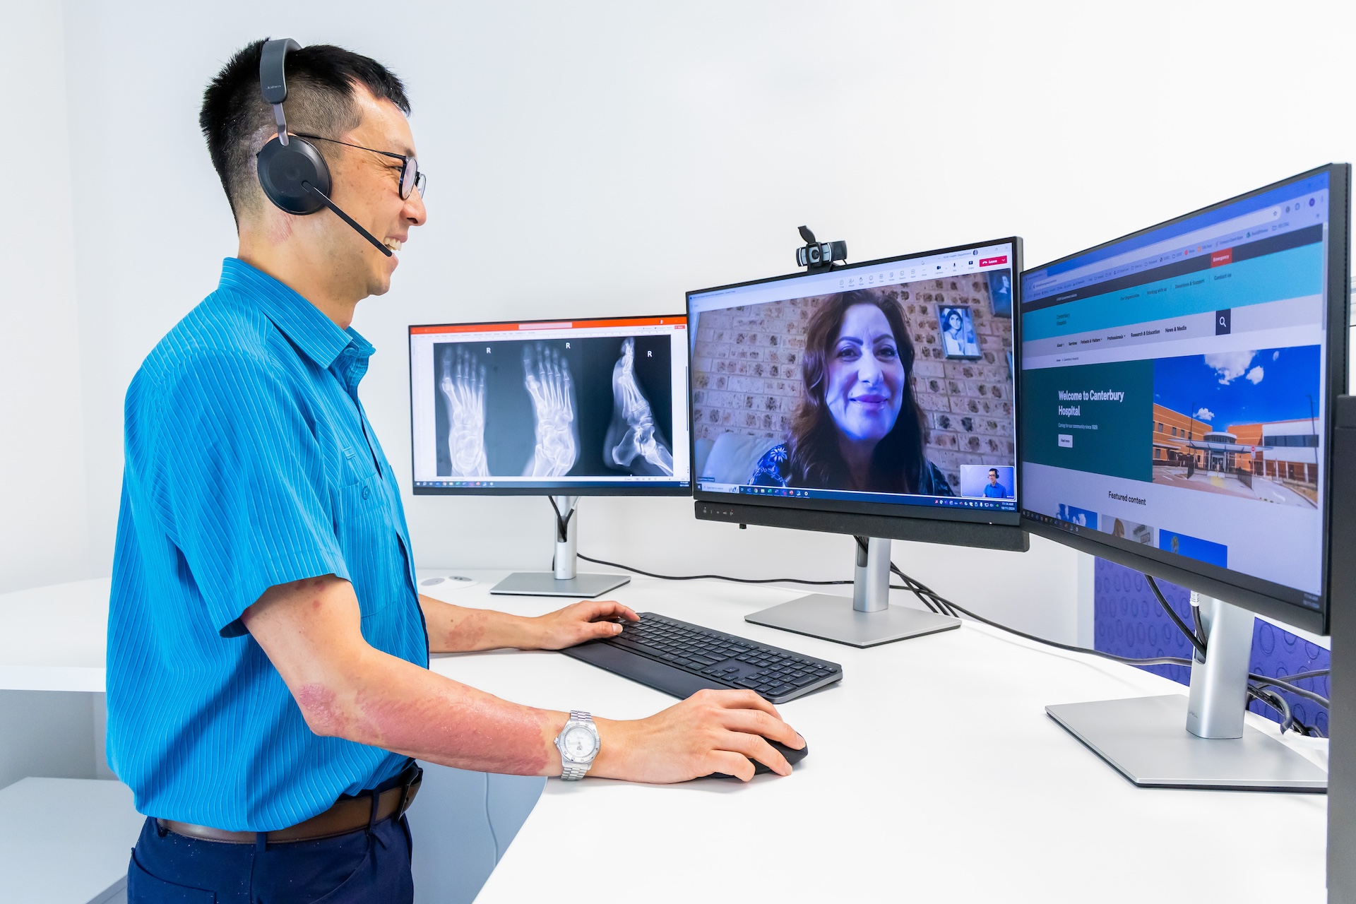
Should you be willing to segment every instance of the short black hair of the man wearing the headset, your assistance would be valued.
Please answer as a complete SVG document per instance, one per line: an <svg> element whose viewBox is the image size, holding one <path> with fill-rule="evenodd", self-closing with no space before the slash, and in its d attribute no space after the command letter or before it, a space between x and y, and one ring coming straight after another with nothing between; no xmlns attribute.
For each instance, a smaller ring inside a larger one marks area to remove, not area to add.
<svg viewBox="0 0 1356 904"><path fill-rule="evenodd" d="M240 209L263 197L255 155L275 134L273 110L259 92L259 56L267 38L245 45L222 66L202 92L198 126L207 140L212 165L240 222ZM378 100L389 100L410 114L405 87L393 72L370 57L328 43L313 43L287 54L287 114L290 131L338 138L357 127L357 85ZM324 150L321 149L321 153Z"/></svg>

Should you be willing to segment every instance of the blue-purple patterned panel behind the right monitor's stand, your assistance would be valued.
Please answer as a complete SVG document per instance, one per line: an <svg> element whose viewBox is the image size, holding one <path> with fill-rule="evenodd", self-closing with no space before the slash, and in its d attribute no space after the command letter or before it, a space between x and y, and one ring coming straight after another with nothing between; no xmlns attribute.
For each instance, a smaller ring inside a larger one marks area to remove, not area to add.
<svg viewBox="0 0 1356 904"><path fill-rule="evenodd" d="M1106 653L1149 659L1153 656L1180 656L1191 659L1191 641L1177 629L1149 588L1144 576L1104 558L1097 560L1093 614L1093 645ZM1192 623L1191 591L1158 581L1158 588L1169 604L1188 625ZM1253 625L1252 671L1257 675L1279 678L1328 668L1326 649L1271 622L1256 619ZM1185 665L1146 665L1155 675L1182 684L1191 683L1191 670ZM1310 678L1296 682L1306 690L1329 697L1329 679ZM1328 735L1328 712L1313 701L1281 691L1295 717L1306 725L1317 726ZM1250 707L1273 721L1280 717L1268 706L1253 701Z"/></svg>

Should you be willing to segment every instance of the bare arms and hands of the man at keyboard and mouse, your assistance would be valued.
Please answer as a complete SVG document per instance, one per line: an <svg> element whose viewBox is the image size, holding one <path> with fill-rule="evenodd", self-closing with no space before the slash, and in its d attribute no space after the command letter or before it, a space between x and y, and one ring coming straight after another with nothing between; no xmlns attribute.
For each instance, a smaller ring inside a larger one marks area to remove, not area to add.
<svg viewBox="0 0 1356 904"><path fill-rule="evenodd" d="M540 618L449 606L422 596L434 652L559 649L621 630L636 614L613 602L575 603ZM443 766L559 775L555 739L567 713L500 699L370 646L348 581L327 575L271 587L244 625L282 675L306 725L324 736ZM791 766L765 739L804 741L753 691L698 691L648 718L595 717L602 741L590 775L681 782L711 773L749 781L759 760Z"/></svg>

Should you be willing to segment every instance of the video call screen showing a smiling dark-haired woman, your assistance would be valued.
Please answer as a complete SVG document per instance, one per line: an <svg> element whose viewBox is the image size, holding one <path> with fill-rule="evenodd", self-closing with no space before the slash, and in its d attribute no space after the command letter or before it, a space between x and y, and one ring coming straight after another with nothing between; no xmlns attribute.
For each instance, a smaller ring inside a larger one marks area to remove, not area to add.
<svg viewBox="0 0 1356 904"><path fill-rule="evenodd" d="M697 489L1017 511L1013 247L689 293Z"/></svg>

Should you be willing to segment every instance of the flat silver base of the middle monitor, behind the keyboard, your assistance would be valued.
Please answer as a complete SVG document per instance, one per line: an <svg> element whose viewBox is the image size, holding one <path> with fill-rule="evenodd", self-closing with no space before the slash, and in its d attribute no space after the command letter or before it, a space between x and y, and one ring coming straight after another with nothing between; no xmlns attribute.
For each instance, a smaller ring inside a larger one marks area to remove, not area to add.
<svg viewBox="0 0 1356 904"><path fill-rule="evenodd" d="M909 637L936 634L960 628L959 618L937 615L904 606L888 606L873 613L853 609L846 596L811 594L751 615L746 622L808 634L849 646L876 646Z"/></svg>

